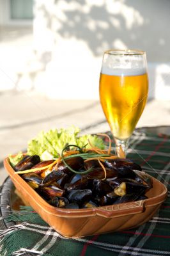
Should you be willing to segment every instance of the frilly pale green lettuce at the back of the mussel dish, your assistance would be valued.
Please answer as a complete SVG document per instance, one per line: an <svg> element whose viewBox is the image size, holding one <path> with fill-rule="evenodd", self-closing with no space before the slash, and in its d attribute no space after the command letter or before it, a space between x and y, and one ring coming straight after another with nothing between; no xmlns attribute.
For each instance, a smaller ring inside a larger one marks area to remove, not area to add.
<svg viewBox="0 0 170 256"><path fill-rule="evenodd" d="M68 129L51 129L47 132L40 132L36 138L29 141L27 147L27 154L29 155L38 155L42 160L47 160L47 157L50 158L58 157L58 154L61 154L63 148L67 144L77 145L79 147L84 147L88 144L88 140L95 147L104 149L104 141L101 138L98 138L96 135L83 135L79 137L79 132L81 130L77 127L69 127ZM87 148L90 147L88 144Z"/></svg>

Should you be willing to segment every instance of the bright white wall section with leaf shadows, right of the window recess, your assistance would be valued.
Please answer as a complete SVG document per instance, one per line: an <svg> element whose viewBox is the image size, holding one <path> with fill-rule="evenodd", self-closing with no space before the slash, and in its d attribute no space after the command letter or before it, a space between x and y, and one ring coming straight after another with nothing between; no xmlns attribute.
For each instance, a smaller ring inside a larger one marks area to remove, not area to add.
<svg viewBox="0 0 170 256"><path fill-rule="evenodd" d="M169 11L166 0L37 0L35 49L50 61L36 90L54 98L97 99L103 52L131 48L146 51L150 97L170 99Z"/></svg>

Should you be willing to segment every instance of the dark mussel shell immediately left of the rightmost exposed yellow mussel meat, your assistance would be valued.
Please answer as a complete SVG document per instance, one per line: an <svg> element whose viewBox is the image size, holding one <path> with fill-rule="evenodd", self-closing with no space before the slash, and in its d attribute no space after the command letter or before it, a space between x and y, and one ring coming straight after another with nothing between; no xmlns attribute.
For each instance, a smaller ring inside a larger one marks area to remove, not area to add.
<svg viewBox="0 0 170 256"><path fill-rule="evenodd" d="M93 195L103 196L112 191L112 187L106 180L93 180Z"/></svg>

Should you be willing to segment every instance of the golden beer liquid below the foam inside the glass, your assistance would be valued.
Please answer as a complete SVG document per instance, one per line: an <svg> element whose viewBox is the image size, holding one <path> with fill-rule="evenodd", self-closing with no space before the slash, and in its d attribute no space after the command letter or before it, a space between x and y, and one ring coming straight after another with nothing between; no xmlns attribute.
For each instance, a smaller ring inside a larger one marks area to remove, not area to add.
<svg viewBox="0 0 170 256"><path fill-rule="evenodd" d="M148 97L148 75L100 74L100 102L112 134L127 140L143 113Z"/></svg>

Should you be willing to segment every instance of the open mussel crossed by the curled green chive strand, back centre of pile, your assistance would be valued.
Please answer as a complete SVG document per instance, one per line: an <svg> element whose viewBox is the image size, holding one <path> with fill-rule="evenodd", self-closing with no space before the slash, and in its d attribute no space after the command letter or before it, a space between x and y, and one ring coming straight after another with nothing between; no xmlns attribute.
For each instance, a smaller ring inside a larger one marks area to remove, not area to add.
<svg viewBox="0 0 170 256"><path fill-rule="evenodd" d="M66 159L65 162L66 162L66 164L68 164L68 166L70 166L75 171L81 170L81 168L83 168L83 166L84 166L84 160L80 156ZM59 163L58 171L65 172L67 174L72 173L72 171L70 171L68 169L68 167L65 165L65 163L63 163L63 162Z"/></svg>

